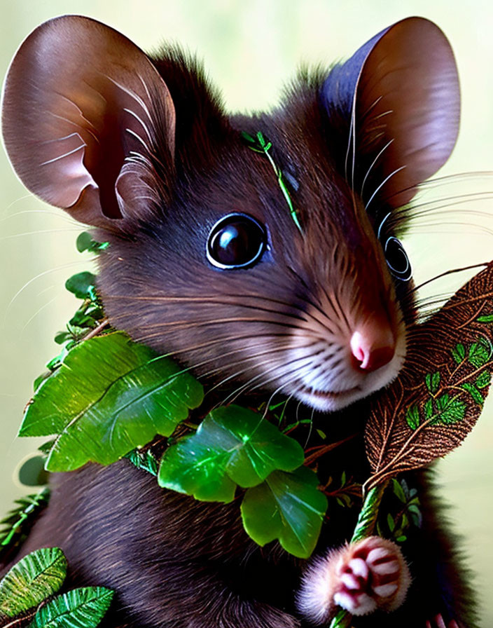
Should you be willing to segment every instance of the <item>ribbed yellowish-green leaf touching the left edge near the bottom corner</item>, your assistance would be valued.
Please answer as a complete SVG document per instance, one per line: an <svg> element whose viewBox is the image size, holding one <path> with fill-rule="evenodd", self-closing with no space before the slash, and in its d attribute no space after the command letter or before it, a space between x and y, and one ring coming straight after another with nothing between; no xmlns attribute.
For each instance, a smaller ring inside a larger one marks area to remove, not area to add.
<svg viewBox="0 0 493 628"><path fill-rule="evenodd" d="M67 575L67 559L59 547L27 554L0 582L0 613L15 617L57 592Z"/></svg>

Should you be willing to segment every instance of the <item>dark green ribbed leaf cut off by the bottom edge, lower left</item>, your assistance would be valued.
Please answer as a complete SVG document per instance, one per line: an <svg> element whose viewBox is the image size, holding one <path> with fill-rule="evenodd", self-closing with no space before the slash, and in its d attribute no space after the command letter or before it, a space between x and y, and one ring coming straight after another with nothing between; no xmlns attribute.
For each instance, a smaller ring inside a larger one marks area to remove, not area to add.
<svg viewBox="0 0 493 628"><path fill-rule="evenodd" d="M29 628L95 628L113 595L105 587L72 589L40 608Z"/></svg>

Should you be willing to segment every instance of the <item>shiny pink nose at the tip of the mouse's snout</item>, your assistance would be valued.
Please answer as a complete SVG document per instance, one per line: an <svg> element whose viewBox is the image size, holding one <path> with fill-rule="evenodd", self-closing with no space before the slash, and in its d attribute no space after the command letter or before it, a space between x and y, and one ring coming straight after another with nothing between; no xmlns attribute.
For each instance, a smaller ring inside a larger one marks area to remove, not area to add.
<svg viewBox="0 0 493 628"><path fill-rule="evenodd" d="M389 327L366 327L351 338L353 364L357 370L376 371L394 357L396 343Z"/></svg>

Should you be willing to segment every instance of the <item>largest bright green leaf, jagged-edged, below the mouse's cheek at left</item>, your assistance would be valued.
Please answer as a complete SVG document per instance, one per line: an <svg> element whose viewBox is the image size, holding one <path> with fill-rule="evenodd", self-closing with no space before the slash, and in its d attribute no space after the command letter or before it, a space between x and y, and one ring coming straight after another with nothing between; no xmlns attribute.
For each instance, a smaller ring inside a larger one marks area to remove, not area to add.
<svg viewBox="0 0 493 628"><path fill-rule="evenodd" d="M71 471L89 460L108 465L156 434L172 434L202 399L202 385L188 372L117 332L67 354L36 390L19 434L57 435L49 471Z"/></svg>

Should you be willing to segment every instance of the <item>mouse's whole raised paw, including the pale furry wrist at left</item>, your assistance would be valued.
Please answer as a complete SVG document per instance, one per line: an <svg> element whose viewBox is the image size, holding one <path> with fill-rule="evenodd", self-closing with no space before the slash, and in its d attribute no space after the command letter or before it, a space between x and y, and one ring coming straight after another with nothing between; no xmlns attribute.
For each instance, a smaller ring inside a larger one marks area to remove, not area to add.
<svg viewBox="0 0 493 628"><path fill-rule="evenodd" d="M316 623L327 620L335 606L352 615L394 610L403 603L410 581L397 545L371 536L316 561L303 579L298 608Z"/></svg>

